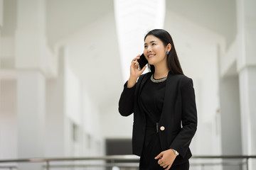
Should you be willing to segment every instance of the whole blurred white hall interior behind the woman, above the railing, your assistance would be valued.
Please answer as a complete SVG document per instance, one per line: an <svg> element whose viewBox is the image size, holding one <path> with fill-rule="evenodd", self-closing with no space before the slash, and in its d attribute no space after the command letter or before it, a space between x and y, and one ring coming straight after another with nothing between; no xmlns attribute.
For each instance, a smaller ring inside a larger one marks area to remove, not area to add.
<svg viewBox="0 0 256 170"><path fill-rule="evenodd" d="M255 155L255 8L255 0L0 0L0 159L132 154L133 117L119 115L118 101L154 28L171 34L193 79L193 155Z"/></svg>

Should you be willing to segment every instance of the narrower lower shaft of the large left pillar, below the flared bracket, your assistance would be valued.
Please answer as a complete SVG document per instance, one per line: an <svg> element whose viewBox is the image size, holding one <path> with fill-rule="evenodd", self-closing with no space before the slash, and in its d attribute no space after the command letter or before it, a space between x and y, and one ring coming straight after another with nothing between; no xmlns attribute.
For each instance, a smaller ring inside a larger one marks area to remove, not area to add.
<svg viewBox="0 0 256 170"><path fill-rule="evenodd" d="M38 71L20 71L17 79L18 158L44 156L45 79ZM39 168L20 164L19 169Z"/></svg>

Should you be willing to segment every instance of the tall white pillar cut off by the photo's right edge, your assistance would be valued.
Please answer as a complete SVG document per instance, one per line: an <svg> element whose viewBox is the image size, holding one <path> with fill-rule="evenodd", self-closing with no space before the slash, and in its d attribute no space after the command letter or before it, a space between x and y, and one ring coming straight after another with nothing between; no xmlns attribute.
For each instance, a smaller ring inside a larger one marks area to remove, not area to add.
<svg viewBox="0 0 256 170"><path fill-rule="evenodd" d="M256 1L237 0L242 152L256 154ZM256 169L256 160L250 164Z"/></svg>

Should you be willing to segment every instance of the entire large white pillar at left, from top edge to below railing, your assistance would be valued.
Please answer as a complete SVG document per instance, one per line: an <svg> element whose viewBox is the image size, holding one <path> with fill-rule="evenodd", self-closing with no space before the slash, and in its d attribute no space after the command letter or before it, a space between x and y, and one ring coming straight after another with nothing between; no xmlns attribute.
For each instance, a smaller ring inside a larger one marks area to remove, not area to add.
<svg viewBox="0 0 256 170"><path fill-rule="evenodd" d="M45 0L17 1L15 67L17 77L18 158L44 157L45 77L48 60ZM18 169L42 169L18 164Z"/></svg>

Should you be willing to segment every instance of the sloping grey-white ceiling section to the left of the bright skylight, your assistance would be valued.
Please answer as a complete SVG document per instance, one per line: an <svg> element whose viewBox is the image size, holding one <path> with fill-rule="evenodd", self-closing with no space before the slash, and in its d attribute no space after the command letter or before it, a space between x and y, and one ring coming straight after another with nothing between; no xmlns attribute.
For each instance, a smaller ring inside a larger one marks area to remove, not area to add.
<svg viewBox="0 0 256 170"><path fill-rule="evenodd" d="M112 0L46 0L46 32L54 45L114 11Z"/></svg>

